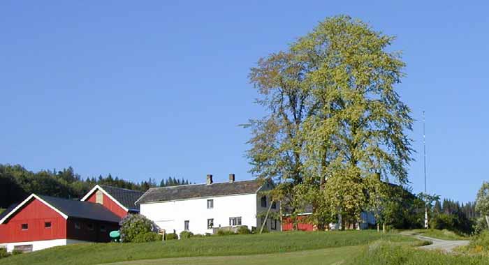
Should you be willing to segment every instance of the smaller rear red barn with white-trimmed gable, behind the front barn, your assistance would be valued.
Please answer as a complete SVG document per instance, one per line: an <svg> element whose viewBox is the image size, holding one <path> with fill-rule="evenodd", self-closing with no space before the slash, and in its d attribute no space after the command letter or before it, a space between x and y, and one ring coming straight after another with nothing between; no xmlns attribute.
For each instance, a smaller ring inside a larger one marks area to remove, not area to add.
<svg viewBox="0 0 489 265"><path fill-rule="evenodd" d="M124 217L129 213L139 213L139 206L134 204L145 192L115 188L108 185L95 185L81 201L102 204L105 208Z"/></svg>

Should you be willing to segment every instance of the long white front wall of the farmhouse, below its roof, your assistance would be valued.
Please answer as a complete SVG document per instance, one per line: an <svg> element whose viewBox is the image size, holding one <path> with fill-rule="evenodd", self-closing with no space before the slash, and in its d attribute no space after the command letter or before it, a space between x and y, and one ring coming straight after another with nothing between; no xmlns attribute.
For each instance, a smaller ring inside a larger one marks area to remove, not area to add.
<svg viewBox="0 0 489 265"><path fill-rule="evenodd" d="M207 209L207 199L214 199L214 208ZM214 227L229 226L229 218L241 217L242 225L256 227L256 194L203 197L140 205L140 213L153 220L167 233L184 230L189 220L189 231L194 234L212 233L207 229L207 219L214 219Z"/></svg>

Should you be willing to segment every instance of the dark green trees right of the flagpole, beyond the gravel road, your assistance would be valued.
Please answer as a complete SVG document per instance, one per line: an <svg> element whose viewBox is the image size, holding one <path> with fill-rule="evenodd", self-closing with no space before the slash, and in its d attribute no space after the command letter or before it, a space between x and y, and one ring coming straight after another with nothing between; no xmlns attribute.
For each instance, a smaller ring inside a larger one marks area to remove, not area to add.
<svg viewBox="0 0 489 265"><path fill-rule="evenodd" d="M470 235L476 229L476 204L468 202L460 204L451 199L437 200L432 208L430 227L435 229L448 229L458 234Z"/></svg>

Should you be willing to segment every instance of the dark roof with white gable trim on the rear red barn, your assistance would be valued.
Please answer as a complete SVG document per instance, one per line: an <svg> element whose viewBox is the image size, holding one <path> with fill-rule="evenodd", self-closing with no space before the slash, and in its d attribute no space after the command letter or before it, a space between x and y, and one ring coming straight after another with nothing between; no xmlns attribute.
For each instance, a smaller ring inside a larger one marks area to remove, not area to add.
<svg viewBox="0 0 489 265"><path fill-rule="evenodd" d="M119 206L122 206L126 211L139 211L139 206L135 202L145 193L139 190L128 190L125 188L116 188L109 185L95 185L87 195L81 200L85 201L96 190L100 189L105 195L108 195L110 199L113 199Z"/></svg>

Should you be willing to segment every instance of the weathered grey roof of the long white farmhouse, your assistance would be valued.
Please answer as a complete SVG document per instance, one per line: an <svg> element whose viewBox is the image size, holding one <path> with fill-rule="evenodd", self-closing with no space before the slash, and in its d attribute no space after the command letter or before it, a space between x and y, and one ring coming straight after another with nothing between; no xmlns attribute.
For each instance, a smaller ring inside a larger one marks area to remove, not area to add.
<svg viewBox="0 0 489 265"><path fill-rule="evenodd" d="M165 202L175 199L191 199L198 197L217 197L225 195L256 193L261 187L257 180L177 185L164 188L150 188L140 197L138 204L146 202Z"/></svg>

